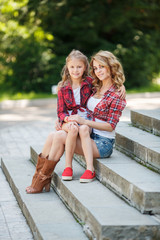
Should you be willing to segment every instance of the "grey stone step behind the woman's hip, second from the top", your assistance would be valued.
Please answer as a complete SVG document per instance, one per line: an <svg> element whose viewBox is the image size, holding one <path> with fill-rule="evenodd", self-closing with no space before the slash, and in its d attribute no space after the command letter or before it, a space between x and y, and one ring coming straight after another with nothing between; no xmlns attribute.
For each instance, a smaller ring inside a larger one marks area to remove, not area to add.
<svg viewBox="0 0 160 240"><path fill-rule="evenodd" d="M160 138L122 122L116 129L116 148L143 165L160 172Z"/></svg>

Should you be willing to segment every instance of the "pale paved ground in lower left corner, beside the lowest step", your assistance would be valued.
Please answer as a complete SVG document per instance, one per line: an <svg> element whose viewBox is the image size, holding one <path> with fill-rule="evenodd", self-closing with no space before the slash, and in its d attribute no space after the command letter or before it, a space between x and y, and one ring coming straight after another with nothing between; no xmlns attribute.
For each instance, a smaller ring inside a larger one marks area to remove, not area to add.
<svg viewBox="0 0 160 240"><path fill-rule="evenodd" d="M0 168L0 240L33 240L32 233Z"/></svg>

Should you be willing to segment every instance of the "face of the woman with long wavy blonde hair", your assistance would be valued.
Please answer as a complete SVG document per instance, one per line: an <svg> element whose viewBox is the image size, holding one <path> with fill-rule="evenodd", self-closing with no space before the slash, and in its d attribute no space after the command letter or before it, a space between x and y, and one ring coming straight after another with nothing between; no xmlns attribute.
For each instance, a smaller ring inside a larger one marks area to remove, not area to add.
<svg viewBox="0 0 160 240"><path fill-rule="evenodd" d="M105 81L111 78L111 71L110 68L107 66L102 66L99 62L93 61L93 69L96 77L101 80Z"/></svg>

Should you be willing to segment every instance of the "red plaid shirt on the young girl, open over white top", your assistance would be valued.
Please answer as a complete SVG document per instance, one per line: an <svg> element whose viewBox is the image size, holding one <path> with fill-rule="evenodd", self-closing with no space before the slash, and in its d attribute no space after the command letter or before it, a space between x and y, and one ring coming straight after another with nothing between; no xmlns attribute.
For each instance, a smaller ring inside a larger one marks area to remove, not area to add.
<svg viewBox="0 0 160 240"><path fill-rule="evenodd" d="M76 105L70 84L61 87L58 91L57 114L61 123L63 123L66 116L69 116L68 110L72 110L72 114L77 114L78 109L81 110L81 107L86 108L87 100L92 94L92 81L93 79L90 77L87 77L82 81L80 89L80 105Z"/></svg>

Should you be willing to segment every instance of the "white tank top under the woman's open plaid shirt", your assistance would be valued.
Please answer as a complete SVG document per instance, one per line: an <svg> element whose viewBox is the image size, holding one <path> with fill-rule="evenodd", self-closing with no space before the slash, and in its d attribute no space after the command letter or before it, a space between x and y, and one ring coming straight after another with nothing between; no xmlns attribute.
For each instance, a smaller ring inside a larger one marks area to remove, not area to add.
<svg viewBox="0 0 160 240"><path fill-rule="evenodd" d="M97 104L102 100L102 98L94 98L94 97L90 97L87 103L87 107L90 111L94 112L95 107L97 106ZM95 122L101 122L104 123L105 121L100 120L98 118L95 118ZM112 132L108 132L108 131L102 131L102 130L98 130L93 128L93 132L95 134L98 134L100 136L103 137L107 137L107 138L115 138L115 130L113 130Z"/></svg>

